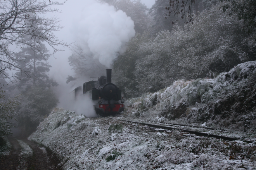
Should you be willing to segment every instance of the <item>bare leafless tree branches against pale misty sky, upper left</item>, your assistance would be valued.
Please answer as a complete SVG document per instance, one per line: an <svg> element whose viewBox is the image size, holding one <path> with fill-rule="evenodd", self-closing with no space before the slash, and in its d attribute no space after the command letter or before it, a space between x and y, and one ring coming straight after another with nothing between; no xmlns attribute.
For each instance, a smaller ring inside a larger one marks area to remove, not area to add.
<svg viewBox="0 0 256 170"><path fill-rule="evenodd" d="M8 75L7 70L23 72L19 65L22 59L16 57L14 48L25 45L47 56L59 51L58 45L68 46L54 35L55 31L62 28L58 24L59 19L45 16L49 12L59 12L52 6L63 5L65 2L0 0L0 76L11 79L15 78L15 74ZM52 47L51 52L42 50L41 42Z"/></svg>

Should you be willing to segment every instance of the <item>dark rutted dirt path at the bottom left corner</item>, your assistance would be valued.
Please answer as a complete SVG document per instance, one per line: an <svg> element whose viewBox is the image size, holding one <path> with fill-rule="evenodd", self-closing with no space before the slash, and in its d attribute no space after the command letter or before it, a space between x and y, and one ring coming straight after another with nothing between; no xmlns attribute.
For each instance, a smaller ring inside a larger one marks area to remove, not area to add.
<svg viewBox="0 0 256 170"><path fill-rule="evenodd" d="M17 139L9 138L12 144L12 151L8 156L0 157L0 170L61 170L56 168L57 163L55 159L50 159L50 155L44 153L42 149L38 148L37 144L28 139L20 139L33 150L33 155L25 159L26 163L20 163L19 154L21 153L21 146ZM52 156L51 156L52 157ZM26 165L25 167L23 167Z"/></svg>

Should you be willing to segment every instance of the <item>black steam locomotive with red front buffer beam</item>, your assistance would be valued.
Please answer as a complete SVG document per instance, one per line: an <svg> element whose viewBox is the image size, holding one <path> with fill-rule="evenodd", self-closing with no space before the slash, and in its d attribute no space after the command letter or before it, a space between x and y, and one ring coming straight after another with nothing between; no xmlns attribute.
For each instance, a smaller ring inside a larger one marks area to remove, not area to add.
<svg viewBox="0 0 256 170"><path fill-rule="evenodd" d="M121 89L111 83L112 70L106 69L106 72L107 77L101 76L97 81L85 82L83 86L74 90L75 98L81 91L83 94L90 93L90 98L95 102L95 112L100 116L120 114L125 109Z"/></svg>

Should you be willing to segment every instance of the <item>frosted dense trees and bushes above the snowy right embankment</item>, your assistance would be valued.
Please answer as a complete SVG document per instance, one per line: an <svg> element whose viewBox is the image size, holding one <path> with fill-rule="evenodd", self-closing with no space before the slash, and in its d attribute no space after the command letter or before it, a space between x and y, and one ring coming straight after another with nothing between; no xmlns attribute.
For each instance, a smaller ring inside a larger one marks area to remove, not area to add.
<svg viewBox="0 0 256 170"><path fill-rule="evenodd" d="M193 24L130 40L126 53L114 61L114 78L127 97L155 92L178 79L213 78L256 59L255 34L244 29L240 15L231 8L223 12L223 3L206 6Z"/></svg>

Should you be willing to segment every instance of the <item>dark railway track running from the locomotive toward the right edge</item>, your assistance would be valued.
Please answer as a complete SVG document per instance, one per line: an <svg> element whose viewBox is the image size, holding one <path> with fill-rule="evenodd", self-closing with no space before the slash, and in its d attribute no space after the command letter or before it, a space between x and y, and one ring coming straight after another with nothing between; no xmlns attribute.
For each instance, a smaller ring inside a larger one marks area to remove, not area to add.
<svg viewBox="0 0 256 170"><path fill-rule="evenodd" d="M147 123L142 123L142 122L134 122L134 121L122 120L122 119L115 119L115 120L120 120L120 121L124 121L124 122L135 123L135 124L141 124L141 125L145 125L145 126L148 126L148 127L154 127L154 128L158 128L160 131L161 131L161 129L168 130L168 131L178 130L178 131L188 132L188 133L194 134L196 136L214 137L216 139L224 139L224 140L227 140L227 141L238 140L237 138L233 138L233 137L219 136L219 135L208 134L208 133L203 133L203 132L190 131L190 130L187 130L187 129L179 129L179 128L170 127L170 126L153 125L153 124L147 124ZM180 125L180 124L177 124L177 125ZM193 126L193 127L196 127L196 126ZM200 127L200 128L202 128L202 127ZM207 128L207 129L209 129L209 128ZM211 129L214 129L214 128L211 128ZM216 129L214 129L214 130L216 130ZM221 130L221 129L218 129L218 130ZM190 135L187 135L187 136L190 136ZM244 140L244 142L253 143L253 141L247 141L247 140Z"/></svg>

